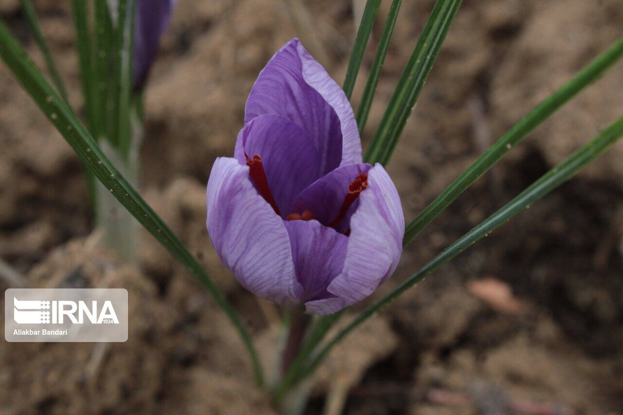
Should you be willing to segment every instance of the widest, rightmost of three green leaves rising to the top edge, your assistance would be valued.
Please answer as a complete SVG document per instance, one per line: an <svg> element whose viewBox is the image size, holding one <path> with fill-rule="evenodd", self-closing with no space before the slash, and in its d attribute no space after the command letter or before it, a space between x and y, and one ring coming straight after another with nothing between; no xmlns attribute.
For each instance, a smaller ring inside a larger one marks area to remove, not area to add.
<svg viewBox="0 0 623 415"><path fill-rule="evenodd" d="M459 11L461 1L437 0L435 3L426 26L417 40L416 48L389 100L381 124L366 151L364 156L366 163L381 163L381 165L388 163L407 119L416 105L417 97L426 83L432 65L437 59L445 36L450 31L450 25Z"/></svg>

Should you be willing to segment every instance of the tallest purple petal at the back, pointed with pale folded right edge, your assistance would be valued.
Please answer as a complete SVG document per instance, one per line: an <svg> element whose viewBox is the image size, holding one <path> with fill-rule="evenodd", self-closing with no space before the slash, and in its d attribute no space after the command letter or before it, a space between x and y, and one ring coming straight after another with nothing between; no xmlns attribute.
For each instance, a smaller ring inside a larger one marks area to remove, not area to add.
<svg viewBox="0 0 623 415"><path fill-rule="evenodd" d="M361 139L348 98L298 39L270 59L249 94L245 122L265 114L288 117L307 131L320 154L321 174L361 163Z"/></svg>

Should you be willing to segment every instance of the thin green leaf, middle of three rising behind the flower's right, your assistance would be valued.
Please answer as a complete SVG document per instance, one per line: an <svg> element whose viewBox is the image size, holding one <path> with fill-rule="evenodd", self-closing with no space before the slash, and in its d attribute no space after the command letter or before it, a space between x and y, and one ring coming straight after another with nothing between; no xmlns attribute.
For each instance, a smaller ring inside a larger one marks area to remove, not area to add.
<svg viewBox="0 0 623 415"><path fill-rule="evenodd" d="M359 127L359 134L363 133L363 128L366 126L368 120L368 114L372 107L372 100L374 99L374 92L376 92L376 85L379 83L379 77L381 77L381 69L383 69L383 62L385 62L385 56L388 53L389 41L391 40L392 33L394 32L394 26L396 26L396 19L402 0L393 0L391 7L389 7L388 18L385 21L385 27L383 34L381 34L381 41L379 41L379 47L376 49L376 55L374 55L374 61L370 67L370 74L368 75L368 82L366 82L366 88L363 91L361 102L357 108L357 126Z"/></svg>

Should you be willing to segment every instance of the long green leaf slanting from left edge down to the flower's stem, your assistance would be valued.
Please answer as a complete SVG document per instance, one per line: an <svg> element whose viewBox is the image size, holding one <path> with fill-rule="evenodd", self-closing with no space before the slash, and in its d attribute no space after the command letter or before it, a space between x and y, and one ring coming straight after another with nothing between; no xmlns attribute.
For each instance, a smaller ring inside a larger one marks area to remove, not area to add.
<svg viewBox="0 0 623 415"><path fill-rule="evenodd" d="M178 262L196 277L217 305L226 313L249 351L255 379L264 383L264 375L252 338L240 316L227 301L221 290L207 275L199 262L188 251L183 242L176 237L156 212L141 198L140 194L126 181L117 168L103 155L92 135L72 112L71 108L44 79L39 70L27 57L24 49L11 35L4 22L0 21L0 58L11 70L14 77L31 96L50 122L57 128L67 143L74 149L80 160L110 189L115 198L128 209L140 223L160 242Z"/></svg>

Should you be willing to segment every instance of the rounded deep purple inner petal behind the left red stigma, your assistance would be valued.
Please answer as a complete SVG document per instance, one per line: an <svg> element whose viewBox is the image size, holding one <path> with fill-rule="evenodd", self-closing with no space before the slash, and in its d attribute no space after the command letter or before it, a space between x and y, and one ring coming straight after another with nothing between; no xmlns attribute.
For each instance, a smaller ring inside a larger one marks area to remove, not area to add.
<svg viewBox="0 0 623 415"><path fill-rule="evenodd" d="M258 154L269 181L270 192L282 217L294 196L320 177L318 151L307 133L281 115L262 115L242 128L236 140L234 157L246 164Z"/></svg>

